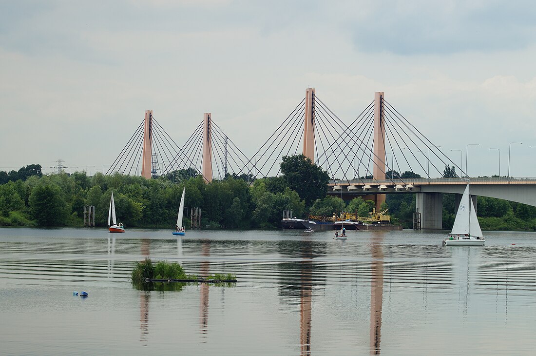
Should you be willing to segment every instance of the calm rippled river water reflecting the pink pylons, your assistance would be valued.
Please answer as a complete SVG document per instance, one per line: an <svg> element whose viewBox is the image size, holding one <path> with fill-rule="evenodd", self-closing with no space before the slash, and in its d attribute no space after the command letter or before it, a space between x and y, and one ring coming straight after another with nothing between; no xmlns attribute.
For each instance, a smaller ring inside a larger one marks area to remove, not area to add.
<svg viewBox="0 0 536 356"><path fill-rule="evenodd" d="M446 233L1 228L0 353L533 355L536 233ZM238 282L140 291L145 256Z"/></svg>

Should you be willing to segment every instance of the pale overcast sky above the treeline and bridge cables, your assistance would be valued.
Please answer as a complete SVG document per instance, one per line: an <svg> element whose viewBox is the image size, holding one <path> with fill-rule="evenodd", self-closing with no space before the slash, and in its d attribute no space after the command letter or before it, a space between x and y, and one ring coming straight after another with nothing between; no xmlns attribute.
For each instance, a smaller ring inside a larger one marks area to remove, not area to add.
<svg viewBox="0 0 536 356"><path fill-rule="evenodd" d="M0 1L0 170L106 170L147 109L253 155L314 87L348 124L385 92L456 162L480 144L472 176L522 142L536 176L535 27L528 1Z"/></svg>

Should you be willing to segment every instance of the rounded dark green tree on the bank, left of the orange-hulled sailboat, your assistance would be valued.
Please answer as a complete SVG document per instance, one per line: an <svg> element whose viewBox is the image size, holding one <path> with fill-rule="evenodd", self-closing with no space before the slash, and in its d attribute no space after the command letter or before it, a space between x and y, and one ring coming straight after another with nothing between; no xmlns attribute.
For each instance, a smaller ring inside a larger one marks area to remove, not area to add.
<svg viewBox="0 0 536 356"><path fill-rule="evenodd" d="M54 184L35 186L29 197L29 205L39 226L63 226L70 215L63 192Z"/></svg>

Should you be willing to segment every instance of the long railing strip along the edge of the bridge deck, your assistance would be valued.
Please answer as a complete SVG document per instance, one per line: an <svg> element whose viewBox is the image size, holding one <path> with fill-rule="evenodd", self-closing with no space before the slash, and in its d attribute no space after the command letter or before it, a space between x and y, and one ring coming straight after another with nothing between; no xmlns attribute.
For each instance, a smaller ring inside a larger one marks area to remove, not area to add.
<svg viewBox="0 0 536 356"><path fill-rule="evenodd" d="M506 182L516 182L516 183L536 183L536 177L474 177L469 179L471 183L506 183ZM384 180L375 180L375 179L351 179L351 180L330 180L330 186L363 186L371 185L375 186L378 184L385 184L386 186L392 186L393 184L400 184L404 186L405 184L434 184L434 183L451 183L451 184L465 184L466 179L460 178L405 178L400 179L384 179Z"/></svg>

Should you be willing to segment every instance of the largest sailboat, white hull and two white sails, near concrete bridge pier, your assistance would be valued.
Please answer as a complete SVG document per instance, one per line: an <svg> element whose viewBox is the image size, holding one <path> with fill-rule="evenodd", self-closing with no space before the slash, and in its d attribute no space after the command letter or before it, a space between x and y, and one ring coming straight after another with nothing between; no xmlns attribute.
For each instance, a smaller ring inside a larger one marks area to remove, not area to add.
<svg viewBox="0 0 536 356"><path fill-rule="evenodd" d="M469 194L469 183L467 183L464 194L461 196L452 231L443 240L443 246L484 246L485 241Z"/></svg>

